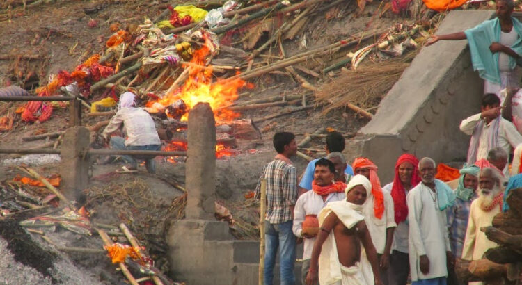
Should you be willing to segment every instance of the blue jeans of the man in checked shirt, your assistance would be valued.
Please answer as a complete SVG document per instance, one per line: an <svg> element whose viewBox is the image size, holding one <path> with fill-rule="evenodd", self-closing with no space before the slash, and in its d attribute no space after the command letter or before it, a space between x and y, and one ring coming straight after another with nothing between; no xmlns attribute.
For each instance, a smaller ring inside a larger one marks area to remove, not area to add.
<svg viewBox="0 0 522 285"><path fill-rule="evenodd" d="M274 282L274 266L279 249L279 266L281 284L294 284L294 263L296 237L292 232L292 220L280 224L271 224L265 221L266 239L264 246L264 284L271 285Z"/></svg>

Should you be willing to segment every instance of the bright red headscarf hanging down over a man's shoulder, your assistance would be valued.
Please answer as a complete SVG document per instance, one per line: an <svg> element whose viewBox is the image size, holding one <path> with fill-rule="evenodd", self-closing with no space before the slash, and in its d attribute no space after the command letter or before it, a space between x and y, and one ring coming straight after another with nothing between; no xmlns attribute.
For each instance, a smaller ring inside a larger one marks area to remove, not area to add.
<svg viewBox="0 0 522 285"><path fill-rule="evenodd" d="M406 193L404 193L404 185L399 177L399 166L402 163L411 163L413 165L413 173L411 174L411 187L417 186L420 182L418 164L419 160L412 154L402 154L395 163L395 178L393 179L393 188L391 196L393 198L395 210L395 222L400 223L408 218L408 205L406 205Z"/></svg>

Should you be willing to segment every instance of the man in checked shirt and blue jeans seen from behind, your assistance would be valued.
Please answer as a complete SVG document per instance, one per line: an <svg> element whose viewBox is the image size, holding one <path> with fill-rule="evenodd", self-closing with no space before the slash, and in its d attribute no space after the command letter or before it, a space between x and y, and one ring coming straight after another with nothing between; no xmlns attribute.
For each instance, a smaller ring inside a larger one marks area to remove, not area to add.
<svg viewBox="0 0 522 285"><path fill-rule="evenodd" d="M278 154L273 161L264 166L255 189L256 197L259 197L261 179L267 180L264 284L273 282L278 250L281 284L294 284L296 237L292 232L292 220L297 200L297 177L296 169L290 161L290 156L297 152L294 134L276 133L274 147Z"/></svg>

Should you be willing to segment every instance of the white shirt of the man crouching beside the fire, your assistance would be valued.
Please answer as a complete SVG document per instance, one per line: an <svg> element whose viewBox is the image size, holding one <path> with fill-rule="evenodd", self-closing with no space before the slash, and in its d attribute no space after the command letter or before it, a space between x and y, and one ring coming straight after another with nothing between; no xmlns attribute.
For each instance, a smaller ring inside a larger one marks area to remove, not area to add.
<svg viewBox="0 0 522 285"><path fill-rule="evenodd" d="M152 117L142 108L120 108L105 127L103 136L118 130L123 124L125 145L161 145Z"/></svg>

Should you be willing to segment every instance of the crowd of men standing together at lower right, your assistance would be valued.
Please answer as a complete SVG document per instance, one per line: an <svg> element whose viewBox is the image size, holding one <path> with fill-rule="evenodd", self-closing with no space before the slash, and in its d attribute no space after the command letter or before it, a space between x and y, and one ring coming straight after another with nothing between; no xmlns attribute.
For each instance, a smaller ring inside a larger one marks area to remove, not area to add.
<svg viewBox="0 0 522 285"><path fill-rule="evenodd" d="M302 284L464 284L454 273L456 259L482 259L496 247L480 228L491 225L504 204L502 147L465 164L459 179L448 182L435 179L432 158L402 154L384 187L368 158L347 164L340 133L326 136L327 156L310 161L299 186L290 161L295 136L276 133L274 147L278 154L260 177L267 180L264 284L273 284L278 253L281 284L296 278ZM521 186L522 174L512 181L508 188Z"/></svg>

